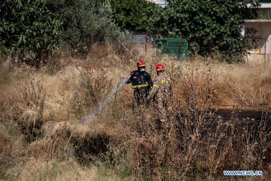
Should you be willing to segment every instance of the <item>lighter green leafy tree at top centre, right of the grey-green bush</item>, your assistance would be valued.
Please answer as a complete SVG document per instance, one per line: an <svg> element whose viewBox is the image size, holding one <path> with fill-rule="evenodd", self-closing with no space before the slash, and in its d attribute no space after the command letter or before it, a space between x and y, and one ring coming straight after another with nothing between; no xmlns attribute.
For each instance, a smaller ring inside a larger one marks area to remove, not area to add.
<svg viewBox="0 0 271 181"><path fill-rule="evenodd" d="M155 3L145 0L111 0L111 7L113 17L121 29L148 33L160 31L157 23L163 8Z"/></svg>

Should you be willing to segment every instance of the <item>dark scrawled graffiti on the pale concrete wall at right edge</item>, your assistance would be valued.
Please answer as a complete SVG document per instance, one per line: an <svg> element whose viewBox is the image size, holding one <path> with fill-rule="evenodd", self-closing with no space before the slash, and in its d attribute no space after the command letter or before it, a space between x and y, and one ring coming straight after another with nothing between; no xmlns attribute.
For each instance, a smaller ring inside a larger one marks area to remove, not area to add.
<svg viewBox="0 0 271 181"><path fill-rule="evenodd" d="M262 44L262 37L257 35L259 31L255 28L245 28L245 34L247 35L248 44L257 49Z"/></svg>

